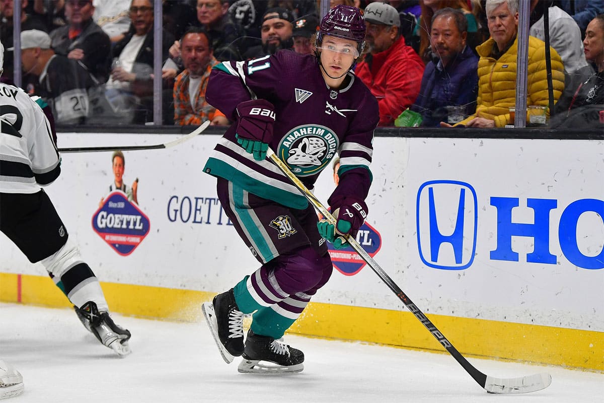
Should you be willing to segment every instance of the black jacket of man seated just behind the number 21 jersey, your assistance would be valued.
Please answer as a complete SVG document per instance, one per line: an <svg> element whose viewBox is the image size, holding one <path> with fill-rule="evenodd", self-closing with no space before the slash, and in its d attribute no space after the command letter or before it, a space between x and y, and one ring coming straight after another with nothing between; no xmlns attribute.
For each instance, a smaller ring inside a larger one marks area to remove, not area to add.
<svg viewBox="0 0 604 403"><path fill-rule="evenodd" d="M69 25L53 30L51 46L56 54L63 56L74 49L82 49L82 63L98 82L104 83L109 79L111 69L111 39L92 19L83 25L82 32L74 39L69 39Z"/></svg>

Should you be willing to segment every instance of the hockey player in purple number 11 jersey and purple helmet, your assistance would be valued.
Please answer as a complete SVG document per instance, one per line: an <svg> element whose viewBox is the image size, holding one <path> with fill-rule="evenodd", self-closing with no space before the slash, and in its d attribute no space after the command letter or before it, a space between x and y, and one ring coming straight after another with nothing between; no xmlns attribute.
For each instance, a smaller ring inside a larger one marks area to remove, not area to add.
<svg viewBox="0 0 604 403"><path fill-rule="evenodd" d="M315 55L279 51L214 67L206 97L234 121L205 172L239 236L262 264L203 311L227 363L239 372L300 372L304 354L279 340L312 295L325 285L341 234L355 234L367 216L376 99L350 71L364 49L358 8L339 5L324 16ZM312 189L340 157L340 181L329 198L336 227L318 222L313 207L270 161L268 146ZM252 314L244 343L243 317Z"/></svg>

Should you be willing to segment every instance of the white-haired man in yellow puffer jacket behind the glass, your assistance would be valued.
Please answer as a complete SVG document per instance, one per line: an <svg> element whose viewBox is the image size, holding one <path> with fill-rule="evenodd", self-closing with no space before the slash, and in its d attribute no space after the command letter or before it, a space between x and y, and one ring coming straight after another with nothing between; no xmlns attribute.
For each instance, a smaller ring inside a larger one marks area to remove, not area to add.
<svg viewBox="0 0 604 403"><path fill-rule="evenodd" d="M466 127L504 127L510 122L509 108L516 105L516 54L518 53L518 0L487 0L491 35L476 50L478 99L474 115L455 124ZM550 47L554 103L564 91L564 63ZM528 37L527 105L548 106L545 43ZM452 127L441 122L442 127Z"/></svg>

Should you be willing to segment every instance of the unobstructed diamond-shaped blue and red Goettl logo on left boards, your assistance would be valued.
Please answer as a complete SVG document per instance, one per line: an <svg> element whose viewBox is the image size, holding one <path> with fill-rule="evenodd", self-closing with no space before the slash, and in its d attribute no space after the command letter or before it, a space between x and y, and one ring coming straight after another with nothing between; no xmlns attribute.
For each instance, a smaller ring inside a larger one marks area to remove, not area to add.
<svg viewBox="0 0 604 403"><path fill-rule="evenodd" d="M143 242L149 227L149 218L120 190L110 193L92 216L92 229L122 256Z"/></svg>

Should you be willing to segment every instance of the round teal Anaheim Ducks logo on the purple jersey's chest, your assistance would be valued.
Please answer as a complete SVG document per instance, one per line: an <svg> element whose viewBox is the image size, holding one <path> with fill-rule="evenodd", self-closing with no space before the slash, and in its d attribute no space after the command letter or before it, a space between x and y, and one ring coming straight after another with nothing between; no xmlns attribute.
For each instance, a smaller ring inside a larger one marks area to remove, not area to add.
<svg viewBox="0 0 604 403"><path fill-rule="evenodd" d="M329 164L338 146L338 137L328 127L303 124L283 137L277 154L296 176L309 176Z"/></svg>

